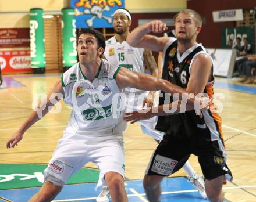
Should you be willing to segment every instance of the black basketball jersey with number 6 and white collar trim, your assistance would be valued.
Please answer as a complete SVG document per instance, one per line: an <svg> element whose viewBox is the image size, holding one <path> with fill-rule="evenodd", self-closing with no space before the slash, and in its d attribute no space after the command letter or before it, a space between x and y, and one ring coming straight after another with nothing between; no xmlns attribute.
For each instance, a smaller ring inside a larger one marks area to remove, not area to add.
<svg viewBox="0 0 256 202"><path fill-rule="evenodd" d="M170 45L168 46L168 44ZM186 89L190 78L191 64L193 63L195 56L201 53L208 53L201 44L197 44L184 52L182 56L180 56L177 52L177 39L171 38L168 44L166 45L167 48L164 50L162 78ZM212 88L213 82L208 84L204 91L205 93L208 93L210 98L213 94ZM161 93L163 93L163 96L160 96L159 98L159 105L166 104L164 103L166 97L165 92L161 91ZM172 100L173 98L171 97L170 102L172 102ZM209 119L211 119L212 114L210 111L207 116L209 116ZM210 122L212 121L215 122L215 118L210 120ZM190 136L190 134L195 132L198 125L204 124L204 120L201 120L200 117L195 114L195 111L192 110L186 111L186 113L170 116L159 116L155 129L166 132L167 134L180 134L180 131L183 131L186 136ZM217 124L217 122L215 122L215 124ZM219 131L216 131L216 134L219 134Z"/></svg>

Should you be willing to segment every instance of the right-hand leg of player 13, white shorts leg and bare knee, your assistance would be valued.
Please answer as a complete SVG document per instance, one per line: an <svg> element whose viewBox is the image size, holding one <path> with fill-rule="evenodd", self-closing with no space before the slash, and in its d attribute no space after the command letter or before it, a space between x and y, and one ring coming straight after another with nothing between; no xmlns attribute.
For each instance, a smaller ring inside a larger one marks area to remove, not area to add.
<svg viewBox="0 0 256 202"><path fill-rule="evenodd" d="M97 164L101 171L97 187L104 186L104 190L107 186L112 201L127 201L122 134L115 134L114 131L112 136L94 138L93 142L90 149L91 161ZM109 201L108 194L97 197L97 201Z"/></svg>

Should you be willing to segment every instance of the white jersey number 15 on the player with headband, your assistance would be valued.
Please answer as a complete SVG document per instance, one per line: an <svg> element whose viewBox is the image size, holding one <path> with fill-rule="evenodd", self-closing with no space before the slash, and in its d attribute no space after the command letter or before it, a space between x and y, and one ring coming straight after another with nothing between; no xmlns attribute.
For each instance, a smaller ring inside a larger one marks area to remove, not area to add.
<svg viewBox="0 0 256 202"><path fill-rule="evenodd" d="M113 36L106 41L104 55L110 63L116 66L126 67L131 71L144 73L143 52L143 48L131 47L126 41L120 44L120 42L116 40L116 37ZM140 109L143 98L148 95L148 91L138 89L132 91L130 88L126 88L124 92L128 97L128 102L126 102L127 111L135 111L137 110L137 106L138 109Z"/></svg>

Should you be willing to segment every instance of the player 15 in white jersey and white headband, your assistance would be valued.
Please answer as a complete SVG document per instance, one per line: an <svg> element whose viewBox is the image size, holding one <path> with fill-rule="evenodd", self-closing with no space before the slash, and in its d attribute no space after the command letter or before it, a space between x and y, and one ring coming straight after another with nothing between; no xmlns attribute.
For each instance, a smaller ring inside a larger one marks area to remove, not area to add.
<svg viewBox="0 0 256 202"><path fill-rule="evenodd" d="M147 66L150 70L151 75L158 77L158 67L155 62L152 51L144 48L134 48L131 47L127 42L131 26L131 15L129 10L126 9L116 9L113 14L113 28L115 35L106 41L106 48L104 52L105 58L108 62L126 67L131 71L136 71L138 73L144 73L144 67ZM162 69L162 66L159 66ZM161 77L161 75L160 75ZM154 104L155 91L141 91L136 89L135 92L131 92L131 89L125 89L127 96L134 93L134 96L130 96L128 102L126 103L126 111L136 111L141 109L145 104L152 107ZM141 96L144 94L144 96ZM143 98L147 97L143 100ZM152 117L150 119L138 121L141 125L141 129L144 134L152 136L157 142L159 142L163 137L163 132L154 130L155 124L157 123L157 117ZM189 161L184 164L183 169L189 175L189 180L198 189L201 196L205 199L206 193L204 189L204 179L200 174L197 174L191 167ZM108 187L102 187L101 193L96 199L97 202L108 202L109 201L109 191Z"/></svg>

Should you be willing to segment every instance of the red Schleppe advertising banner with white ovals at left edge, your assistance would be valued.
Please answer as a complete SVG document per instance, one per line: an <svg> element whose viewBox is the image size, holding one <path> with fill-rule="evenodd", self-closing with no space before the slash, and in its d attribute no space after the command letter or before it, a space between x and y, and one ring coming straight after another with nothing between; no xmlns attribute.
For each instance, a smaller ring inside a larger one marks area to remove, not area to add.
<svg viewBox="0 0 256 202"><path fill-rule="evenodd" d="M0 64L2 73L32 72L29 50L0 50Z"/></svg>

